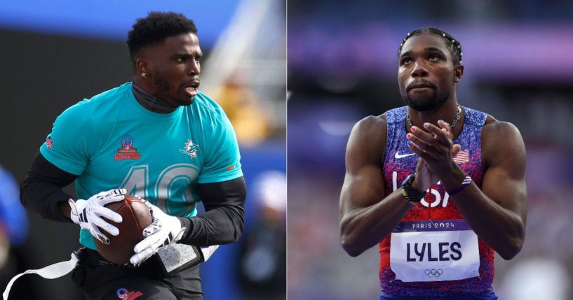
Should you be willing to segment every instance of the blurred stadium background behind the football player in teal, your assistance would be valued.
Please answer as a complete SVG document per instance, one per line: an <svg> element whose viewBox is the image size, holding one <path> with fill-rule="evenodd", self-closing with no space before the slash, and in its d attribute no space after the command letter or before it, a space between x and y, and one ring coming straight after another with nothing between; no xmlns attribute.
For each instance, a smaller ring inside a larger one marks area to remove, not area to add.
<svg viewBox="0 0 573 300"><path fill-rule="evenodd" d="M6 143L0 147L0 165L19 183L55 117L83 98L131 80L127 32L151 10L173 10L196 22L205 53L201 90L224 106L241 144L249 191L245 233L203 265L205 299L284 299L286 36L281 1L0 1L0 128ZM14 183L4 173L1 179L1 197L12 205ZM10 217L14 209L0 207L2 290L15 273L67 260L79 248L75 225L32 213L27 220ZM20 230L7 233L8 227ZM10 299L83 296L69 275L55 280L31 275L15 283Z"/></svg>

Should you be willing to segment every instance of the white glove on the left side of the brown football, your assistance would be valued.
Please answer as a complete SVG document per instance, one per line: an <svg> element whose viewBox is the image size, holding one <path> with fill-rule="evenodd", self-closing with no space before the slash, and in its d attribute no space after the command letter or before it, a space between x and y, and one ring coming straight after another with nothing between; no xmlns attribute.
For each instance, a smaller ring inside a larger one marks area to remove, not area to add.
<svg viewBox="0 0 573 300"><path fill-rule="evenodd" d="M102 234L99 228L104 229L112 236L119 234L119 229L109 224L102 217L112 220L116 223L121 223L122 218L119 213L115 213L113 210L106 208L107 203L112 203L116 201L121 201L126 197L126 189L116 189L109 190L106 192L100 192L95 194L88 200L78 199L75 202L69 199L68 203L72 212L69 217L72 221L83 229L88 229L90 234L100 240L100 242L109 245L109 238Z"/></svg>

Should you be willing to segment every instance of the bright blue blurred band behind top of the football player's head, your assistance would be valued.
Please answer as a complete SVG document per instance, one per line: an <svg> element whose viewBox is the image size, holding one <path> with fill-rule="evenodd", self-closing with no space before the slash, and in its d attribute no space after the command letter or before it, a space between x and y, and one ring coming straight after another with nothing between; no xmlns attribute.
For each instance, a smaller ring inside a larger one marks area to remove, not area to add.
<svg viewBox="0 0 573 300"><path fill-rule="evenodd" d="M125 41L138 17L151 10L175 11L194 20L201 44L210 48L231 22L239 1L0 1L0 27Z"/></svg>

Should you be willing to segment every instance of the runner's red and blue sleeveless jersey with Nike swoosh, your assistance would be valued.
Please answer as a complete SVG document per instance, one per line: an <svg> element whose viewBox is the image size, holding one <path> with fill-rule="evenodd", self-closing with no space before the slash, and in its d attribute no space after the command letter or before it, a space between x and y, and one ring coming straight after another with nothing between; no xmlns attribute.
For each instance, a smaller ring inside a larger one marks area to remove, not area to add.
<svg viewBox="0 0 573 300"><path fill-rule="evenodd" d="M395 108L386 112L388 136L384 155L384 183L386 196L402 181L416 171L418 156L407 146L405 131L407 107ZM487 115L470 108L465 109L465 120L461 134L454 141L461 145L461 151L454 158L461 169L471 176L481 188L483 166L481 157L481 129ZM463 199L460 199L463 201ZM459 209L440 183L433 185L421 203L417 203L405 215L402 222L420 220L460 220L464 219ZM492 290L494 277L494 250L478 238L479 276L462 280L403 282L396 279L390 266L391 235L379 243L379 280L382 292L398 297L459 297L483 294ZM422 262L423 263L423 262Z"/></svg>

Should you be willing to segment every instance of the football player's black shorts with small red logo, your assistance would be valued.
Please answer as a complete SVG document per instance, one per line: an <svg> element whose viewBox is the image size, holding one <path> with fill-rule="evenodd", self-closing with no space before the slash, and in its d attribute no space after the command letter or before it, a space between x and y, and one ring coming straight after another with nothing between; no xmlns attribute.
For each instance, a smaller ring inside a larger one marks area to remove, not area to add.
<svg viewBox="0 0 573 300"><path fill-rule="evenodd" d="M79 259L72 280L89 300L203 299L198 265L166 276L155 256L138 268L111 264L87 248Z"/></svg>

